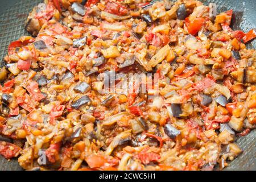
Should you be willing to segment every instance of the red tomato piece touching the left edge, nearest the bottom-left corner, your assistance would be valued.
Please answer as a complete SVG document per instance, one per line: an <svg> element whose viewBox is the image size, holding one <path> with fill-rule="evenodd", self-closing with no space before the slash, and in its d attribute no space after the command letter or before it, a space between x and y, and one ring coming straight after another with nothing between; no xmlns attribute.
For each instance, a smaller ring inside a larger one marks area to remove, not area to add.
<svg viewBox="0 0 256 182"><path fill-rule="evenodd" d="M15 144L0 141L0 155L6 159L15 158L22 149Z"/></svg>

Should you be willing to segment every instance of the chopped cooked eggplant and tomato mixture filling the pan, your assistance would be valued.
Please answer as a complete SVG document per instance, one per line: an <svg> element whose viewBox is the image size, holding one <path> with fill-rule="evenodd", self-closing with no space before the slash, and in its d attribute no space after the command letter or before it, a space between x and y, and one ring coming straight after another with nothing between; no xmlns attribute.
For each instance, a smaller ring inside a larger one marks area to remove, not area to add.
<svg viewBox="0 0 256 182"><path fill-rule="evenodd" d="M0 154L26 170L228 166L236 137L256 126L256 52L245 46L256 34L232 30L232 10L209 11L195 0L34 7L32 36L10 43L0 69ZM109 72L157 73L159 88L102 94Z"/></svg>

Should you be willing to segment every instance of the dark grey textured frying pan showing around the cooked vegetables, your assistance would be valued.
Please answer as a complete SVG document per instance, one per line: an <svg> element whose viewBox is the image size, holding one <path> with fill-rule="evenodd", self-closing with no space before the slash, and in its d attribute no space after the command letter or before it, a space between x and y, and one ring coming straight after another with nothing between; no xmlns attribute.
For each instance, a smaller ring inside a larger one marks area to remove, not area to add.
<svg viewBox="0 0 256 182"><path fill-rule="evenodd" d="M202 0L201 0L202 1ZM3 57L7 53L10 42L22 35L28 35L24 30L24 21L32 8L42 0L0 0L0 66L4 65ZM205 5L216 3L217 12L234 10L232 28L234 30L249 31L256 28L256 2L255 0L203 0ZM247 44L248 48L256 48L256 40ZM243 149L243 153L230 163L225 170L256 170L255 165L255 137L256 130L245 137L237 138L236 142ZM0 170L22 170L16 159L6 160L0 156Z"/></svg>

